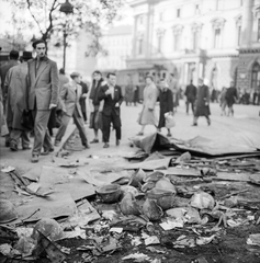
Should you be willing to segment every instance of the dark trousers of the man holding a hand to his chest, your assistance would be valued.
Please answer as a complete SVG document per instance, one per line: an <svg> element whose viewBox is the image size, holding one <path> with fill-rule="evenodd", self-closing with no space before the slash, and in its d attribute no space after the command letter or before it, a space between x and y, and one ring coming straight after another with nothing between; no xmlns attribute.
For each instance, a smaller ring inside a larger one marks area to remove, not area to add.
<svg viewBox="0 0 260 263"><path fill-rule="evenodd" d="M110 116L104 115L102 113L102 122L103 122L103 141L109 142L110 141L110 129L111 129L111 123L113 124L113 127L115 129L115 138L117 140L121 140L121 118L120 115L116 115L115 113L111 113Z"/></svg>

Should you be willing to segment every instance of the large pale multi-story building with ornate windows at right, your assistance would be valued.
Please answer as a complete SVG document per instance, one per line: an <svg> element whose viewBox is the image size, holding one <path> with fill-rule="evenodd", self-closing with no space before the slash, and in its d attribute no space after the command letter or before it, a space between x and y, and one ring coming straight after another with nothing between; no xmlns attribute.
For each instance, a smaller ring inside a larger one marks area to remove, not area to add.
<svg viewBox="0 0 260 263"><path fill-rule="evenodd" d="M260 89L260 0L133 0L135 82L173 73L180 87Z"/></svg>

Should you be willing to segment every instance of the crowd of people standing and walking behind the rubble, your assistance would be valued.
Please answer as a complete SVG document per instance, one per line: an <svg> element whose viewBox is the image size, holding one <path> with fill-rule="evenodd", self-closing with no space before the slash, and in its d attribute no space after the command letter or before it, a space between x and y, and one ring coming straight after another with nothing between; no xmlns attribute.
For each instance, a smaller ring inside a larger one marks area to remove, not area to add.
<svg viewBox="0 0 260 263"><path fill-rule="evenodd" d="M106 79L100 71L92 75L90 89L82 81L78 72L70 75L70 80L65 76L64 69L58 72L57 65L46 56L46 44L38 39L33 43L36 57L32 53L19 53L12 50L10 60L0 67L1 94L0 94L0 121L1 135L5 136L5 146L12 151L19 150L21 141L22 149L32 148L32 162L38 162L41 155L48 155L58 147L66 133L71 118L76 124L82 146L89 148L86 133L88 121L86 112L86 100L89 100L90 116L89 128L93 129L93 139L90 144L99 142L99 130L102 132L103 147L110 147L111 128L115 130L115 145L120 146L122 138L121 104L125 99L126 105L128 94L137 96L136 90L125 90L123 98L122 89L116 84L116 75L110 72ZM144 135L145 127L152 125L160 133L167 129L167 136L171 136L174 126L173 115L179 105L178 83L170 79L161 79L156 85L154 77L147 75L146 85L143 92L143 107L138 116L140 130L137 135ZM199 79L197 88L191 81L185 92L186 114L190 105L193 113L193 126L197 126L200 116L204 116L211 125L210 89L203 79ZM237 91L234 82L230 88L223 89L221 95L223 114L234 114L233 104L237 100ZM133 101L133 98L131 99ZM160 115L156 116L156 104L159 101ZM134 99L134 103L137 100ZM5 123L4 123L5 122ZM5 124L5 125L3 125ZM7 126L8 129L3 129ZM58 128L54 142L53 128ZM33 147L30 137L34 137Z"/></svg>

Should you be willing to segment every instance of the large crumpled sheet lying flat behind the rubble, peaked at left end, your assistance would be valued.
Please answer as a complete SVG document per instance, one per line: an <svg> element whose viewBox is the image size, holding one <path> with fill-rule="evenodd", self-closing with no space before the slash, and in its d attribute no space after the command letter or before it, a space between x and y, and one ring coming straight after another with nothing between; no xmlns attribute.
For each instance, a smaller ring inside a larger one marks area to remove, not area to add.
<svg viewBox="0 0 260 263"><path fill-rule="evenodd" d="M221 156L236 156L236 155L256 155L260 151L251 145L248 140L227 141L223 139L208 139L202 136L196 136L190 140L178 140L171 138L169 140L161 134L155 133L143 139L134 140L134 144L142 148L145 152L159 151L160 149L173 149L180 152L189 151L193 156L200 157L221 157Z"/></svg>

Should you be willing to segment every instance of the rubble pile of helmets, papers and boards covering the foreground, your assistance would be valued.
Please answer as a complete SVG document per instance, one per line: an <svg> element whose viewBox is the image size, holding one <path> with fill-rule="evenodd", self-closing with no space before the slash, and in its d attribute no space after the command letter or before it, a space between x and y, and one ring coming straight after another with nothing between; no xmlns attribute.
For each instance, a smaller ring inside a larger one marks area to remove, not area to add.
<svg viewBox="0 0 260 263"><path fill-rule="evenodd" d="M205 158L162 151L137 151L127 162L54 158L54 165L23 176L3 168L20 195L14 204L0 202L3 259L108 262L102 259L118 253L121 262L169 262L171 251L218 245L227 229L256 226L245 245L260 260L256 152Z"/></svg>

